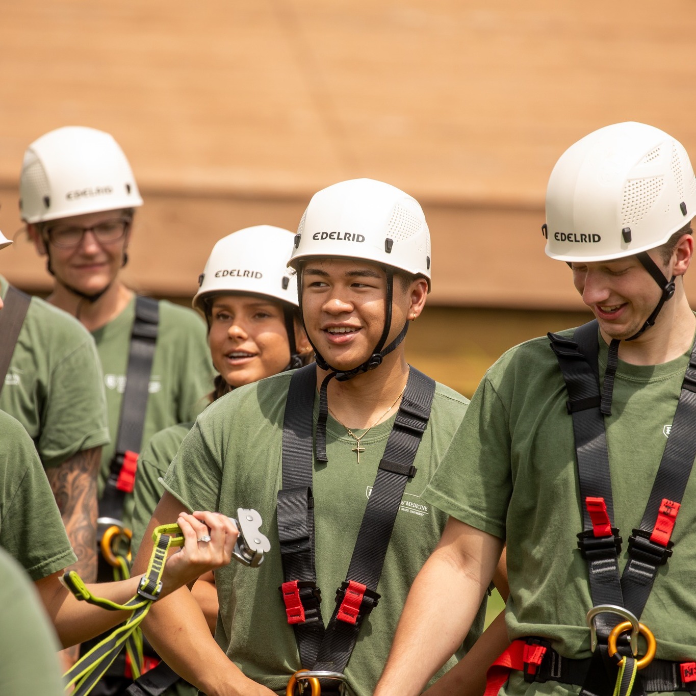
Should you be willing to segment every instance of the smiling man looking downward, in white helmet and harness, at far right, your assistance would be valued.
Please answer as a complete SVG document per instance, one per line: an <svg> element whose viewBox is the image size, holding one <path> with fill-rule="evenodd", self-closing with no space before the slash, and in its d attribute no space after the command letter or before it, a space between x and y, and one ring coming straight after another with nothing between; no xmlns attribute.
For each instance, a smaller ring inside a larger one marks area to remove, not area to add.
<svg viewBox="0 0 696 696"><path fill-rule="evenodd" d="M514 642L491 693L614 693L617 640L616 693L693 690L695 214L688 155L654 127L608 126L560 157L546 253L570 265L596 320L511 349L482 380L424 493L450 519L377 695L420 693L452 654L504 540ZM624 617L649 629L641 658L656 638L638 676Z"/></svg>

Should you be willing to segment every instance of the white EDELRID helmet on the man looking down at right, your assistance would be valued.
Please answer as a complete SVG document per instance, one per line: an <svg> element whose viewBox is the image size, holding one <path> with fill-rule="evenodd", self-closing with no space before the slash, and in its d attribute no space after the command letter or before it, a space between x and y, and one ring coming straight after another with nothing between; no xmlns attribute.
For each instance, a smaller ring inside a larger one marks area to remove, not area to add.
<svg viewBox="0 0 696 696"><path fill-rule="evenodd" d="M567 262L647 251L696 215L696 179L681 143L644 123L606 126L571 145L546 189L546 253Z"/></svg>

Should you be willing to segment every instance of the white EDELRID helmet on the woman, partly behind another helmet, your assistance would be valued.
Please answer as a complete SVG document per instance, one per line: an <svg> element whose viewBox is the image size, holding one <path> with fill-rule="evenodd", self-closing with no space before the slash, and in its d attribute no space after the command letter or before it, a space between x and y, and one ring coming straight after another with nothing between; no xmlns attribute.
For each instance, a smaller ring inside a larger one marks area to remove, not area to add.
<svg viewBox="0 0 696 696"><path fill-rule="evenodd" d="M205 298L225 292L262 295L297 306L297 281L287 268L290 230L257 225L216 242L198 278L193 307L205 314Z"/></svg>

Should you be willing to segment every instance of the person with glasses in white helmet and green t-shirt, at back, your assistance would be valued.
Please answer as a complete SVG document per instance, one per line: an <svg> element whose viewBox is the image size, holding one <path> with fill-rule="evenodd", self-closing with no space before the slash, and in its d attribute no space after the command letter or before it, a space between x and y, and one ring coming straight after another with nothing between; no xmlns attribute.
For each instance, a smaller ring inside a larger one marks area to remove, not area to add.
<svg viewBox="0 0 696 696"><path fill-rule="evenodd" d="M136 298L121 277L135 209L142 204L129 162L107 133L58 128L31 143L24 154L19 205L35 248L54 276L48 301L90 331L104 372L111 444L101 456L100 519L118 522L126 534L141 443L161 429L194 420L207 405L213 374L200 317L167 301ZM135 396L140 405L122 413L134 326L143 321L148 324L145 333L156 333L149 377L145 369L132 379L127 403L139 383ZM131 424L124 426L125 434L133 424L142 427L138 441L125 452L120 451L120 422ZM104 565L100 577L109 575Z"/></svg>

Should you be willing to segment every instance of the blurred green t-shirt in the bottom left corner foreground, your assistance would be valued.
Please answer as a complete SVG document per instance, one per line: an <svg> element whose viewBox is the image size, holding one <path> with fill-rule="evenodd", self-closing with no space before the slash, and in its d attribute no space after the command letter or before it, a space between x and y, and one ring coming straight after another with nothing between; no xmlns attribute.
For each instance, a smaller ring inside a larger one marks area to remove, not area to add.
<svg viewBox="0 0 696 696"><path fill-rule="evenodd" d="M0 548L0 694L63 696L58 640L34 587Z"/></svg>

